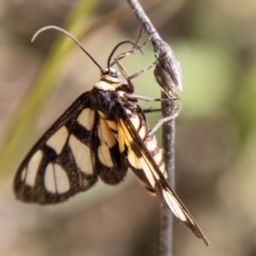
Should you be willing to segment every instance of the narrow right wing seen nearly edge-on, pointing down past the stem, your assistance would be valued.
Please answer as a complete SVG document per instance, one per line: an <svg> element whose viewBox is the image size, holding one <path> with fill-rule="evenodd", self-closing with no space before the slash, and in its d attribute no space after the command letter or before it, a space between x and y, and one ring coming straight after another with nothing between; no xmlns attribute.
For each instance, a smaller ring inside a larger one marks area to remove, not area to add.
<svg viewBox="0 0 256 256"><path fill-rule="evenodd" d="M127 147L127 159L131 169L137 177L148 187L154 189L155 194L166 207L169 207L173 214L184 224L189 226L195 236L201 238L208 245L207 237L203 234L195 219L191 216L183 202L178 198L175 191L167 183L163 173L160 172L148 148L139 137L134 125L125 113L125 109L121 111L119 116L119 143L125 143ZM123 146L119 146L122 148Z"/></svg>

